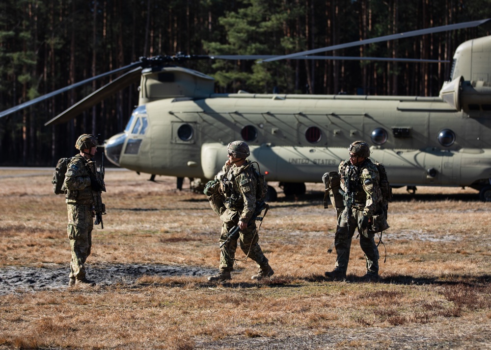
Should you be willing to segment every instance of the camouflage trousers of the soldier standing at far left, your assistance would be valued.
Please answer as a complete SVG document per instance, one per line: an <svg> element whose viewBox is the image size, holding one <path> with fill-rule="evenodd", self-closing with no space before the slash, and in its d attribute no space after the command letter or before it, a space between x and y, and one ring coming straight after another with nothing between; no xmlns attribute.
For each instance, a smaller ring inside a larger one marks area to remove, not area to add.
<svg viewBox="0 0 491 350"><path fill-rule="evenodd" d="M67 234L72 249L70 261L70 278L85 277L85 260L90 255L92 247L92 210L89 205L67 204L68 226Z"/></svg>

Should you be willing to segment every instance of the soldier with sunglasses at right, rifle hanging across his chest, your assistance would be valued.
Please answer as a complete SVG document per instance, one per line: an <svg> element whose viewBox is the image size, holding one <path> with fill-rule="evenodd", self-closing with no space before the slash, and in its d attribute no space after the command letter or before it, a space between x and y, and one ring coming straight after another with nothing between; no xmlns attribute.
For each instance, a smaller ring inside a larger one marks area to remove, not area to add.
<svg viewBox="0 0 491 350"><path fill-rule="evenodd" d="M379 250L375 233L370 229L374 214L381 210L382 194L379 188L379 171L370 160L370 147L366 142L355 141L348 148L350 158L339 165L341 188L347 204L338 217L334 246L336 247L335 269L326 272L330 280L346 279L350 259L350 247L355 230L358 230L360 247L365 253L366 275L364 280L379 277Z"/></svg>

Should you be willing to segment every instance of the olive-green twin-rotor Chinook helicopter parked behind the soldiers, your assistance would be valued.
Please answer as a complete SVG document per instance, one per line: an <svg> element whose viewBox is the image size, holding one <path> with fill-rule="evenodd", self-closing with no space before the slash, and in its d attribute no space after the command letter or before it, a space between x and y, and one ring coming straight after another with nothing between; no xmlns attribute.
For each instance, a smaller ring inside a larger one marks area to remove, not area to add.
<svg viewBox="0 0 491 350"><path fill-rule="evenodd" d="M436 28L417 32L396 36ZM285 194L302 194L304 182L337 170L350 143L366 140L394 187L468 186L491 200L491 36L457 48L439 97L215 94L212 77L160 58L125 68L135 67L46 125L74 118L140 79L126 128L105 142L117 166L211 179L226 160L226 145L244 140L269 181L282 182Z"/></svg>

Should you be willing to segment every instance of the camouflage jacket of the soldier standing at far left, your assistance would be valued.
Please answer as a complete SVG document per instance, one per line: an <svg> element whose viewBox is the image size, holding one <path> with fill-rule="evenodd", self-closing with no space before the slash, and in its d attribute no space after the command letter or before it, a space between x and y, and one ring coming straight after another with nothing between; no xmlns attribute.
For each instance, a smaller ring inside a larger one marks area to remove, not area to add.
<svg viewBox="0 0 491 350"><path fill-rule="evenodd" d="M86 160L80 154L74 156L68 164L63 182L67 189L65 197L68 204L94 205L94 193L90 187L89 172L94 171L91 165L95 169L95 163Z"/></svg>

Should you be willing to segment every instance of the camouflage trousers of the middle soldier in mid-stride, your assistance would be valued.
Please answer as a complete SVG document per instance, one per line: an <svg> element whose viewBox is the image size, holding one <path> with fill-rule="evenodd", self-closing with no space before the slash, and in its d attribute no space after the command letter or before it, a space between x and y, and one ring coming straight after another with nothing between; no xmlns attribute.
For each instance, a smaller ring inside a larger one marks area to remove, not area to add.
<svg viewBox="0 0 491 350"><path fill-rule="evenodd" d="M228 215L227 215L228 214ZM227 233L230 229L239 223L239 215L234 215L228 209L223 213L223 217L233 218L235 220L223 221L221 227L220 243L227 239ZM256 224L251 223L245 230L240 231L239 241L241 249L246 257L254 260L258 269L267 270L269 268L268 259L264 256L261 247L258 244L259 235L256 231ZM235 251L237 250L237 240L228 241L220 250L220 271L231 272L234 269Z"/></svg>

